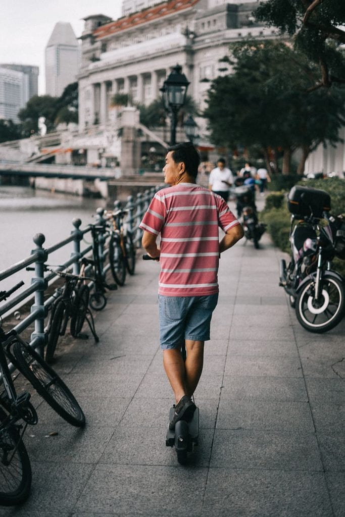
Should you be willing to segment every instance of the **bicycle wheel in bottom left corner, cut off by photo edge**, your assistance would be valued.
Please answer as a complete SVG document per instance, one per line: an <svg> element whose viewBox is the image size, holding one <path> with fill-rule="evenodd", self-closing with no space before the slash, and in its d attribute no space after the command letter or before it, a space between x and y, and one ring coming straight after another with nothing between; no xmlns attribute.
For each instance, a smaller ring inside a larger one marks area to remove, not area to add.
<svg viewBox="0 0 345 517"><path fill-rule="evenodd" d="M0 428L6 413L0 408ZM23 503L31 489L31 465L23 440L13 426L0 431L0 505Z"/></svg>

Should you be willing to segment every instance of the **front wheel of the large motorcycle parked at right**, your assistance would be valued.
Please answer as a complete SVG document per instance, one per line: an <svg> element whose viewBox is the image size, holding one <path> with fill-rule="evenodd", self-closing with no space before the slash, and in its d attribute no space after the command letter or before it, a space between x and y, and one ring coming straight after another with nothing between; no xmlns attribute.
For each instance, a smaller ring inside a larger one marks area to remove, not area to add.
<svg viewBox="0 0 345 517"><path fill-rule="evenodd" d="M310 332L327 332L341 321L344 314L344 287L342 282L325 273L321 294L314 300L315 282L311 279L296 297L298 322Z"/></svg>

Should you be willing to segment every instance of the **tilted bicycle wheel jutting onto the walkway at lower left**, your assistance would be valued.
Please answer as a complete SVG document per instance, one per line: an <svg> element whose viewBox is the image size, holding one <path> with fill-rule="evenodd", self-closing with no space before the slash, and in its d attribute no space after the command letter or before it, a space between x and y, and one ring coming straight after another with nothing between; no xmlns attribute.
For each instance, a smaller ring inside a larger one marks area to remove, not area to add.
<svg viewBox="0 0 345 517"><path fill-rule="evenodd" d="M37 393L71 425L82 427L85 416L76 398L54 370L29 345L17 341L13 346L18 370Z"/></svg>

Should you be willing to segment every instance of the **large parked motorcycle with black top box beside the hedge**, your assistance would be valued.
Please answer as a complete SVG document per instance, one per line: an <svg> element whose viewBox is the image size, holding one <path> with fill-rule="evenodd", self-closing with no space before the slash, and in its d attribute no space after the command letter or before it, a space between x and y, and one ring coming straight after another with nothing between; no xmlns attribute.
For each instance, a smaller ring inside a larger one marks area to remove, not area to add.
<svg viewBox="0 0 345 517"><path fill-rule="evenodd" d="M293 187L288 208L291 258L288 266L280 261L279 285L298 322L310 332L326 332L344 315L343 278L332 260L345 258L345 223L329 214L331 199L323 190Z"/></svg>

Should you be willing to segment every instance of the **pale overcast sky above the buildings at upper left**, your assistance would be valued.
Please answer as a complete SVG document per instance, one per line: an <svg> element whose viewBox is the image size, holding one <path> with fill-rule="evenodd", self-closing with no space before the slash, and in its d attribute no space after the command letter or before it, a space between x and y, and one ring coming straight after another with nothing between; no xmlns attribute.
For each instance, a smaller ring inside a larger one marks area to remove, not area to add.
<svg viewBox="0 0 345 517"><path fill-rule="evenodd" d="M82 18L121 16L122 0L0 0L0 64L39 66L38 93L45 93L44 49L55 23L69 22L77 38Z"/></svg>

